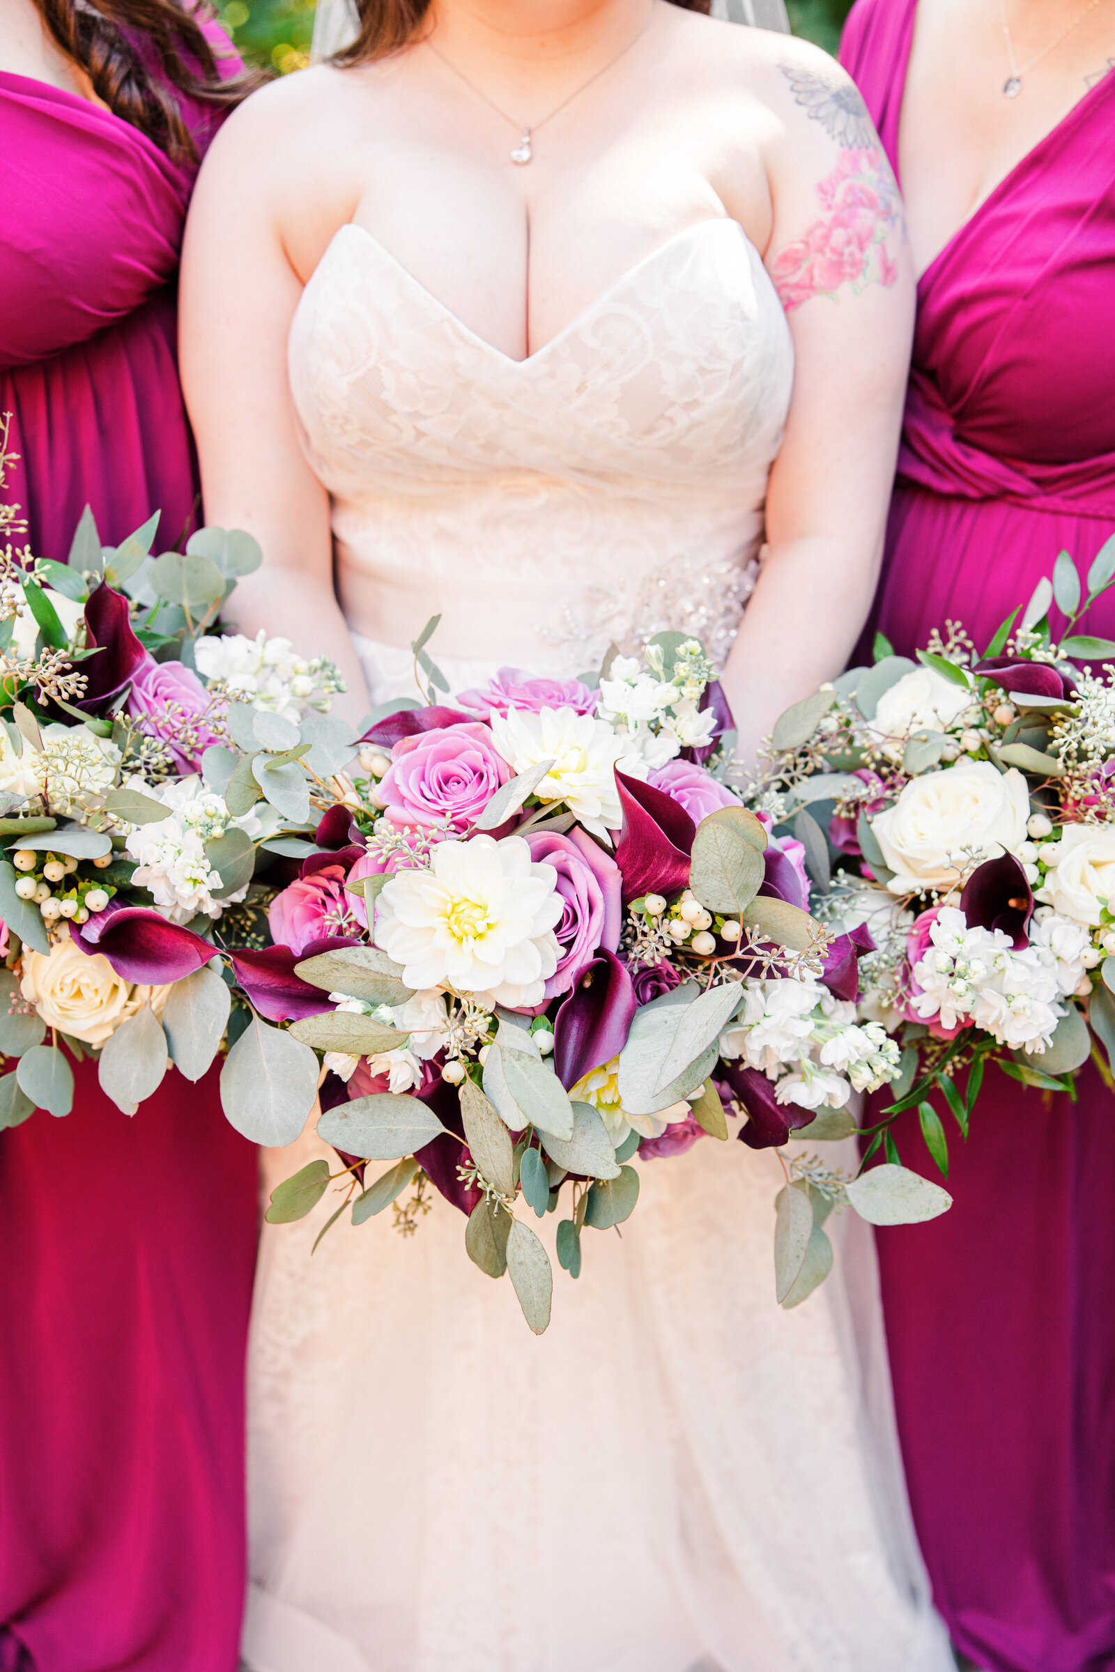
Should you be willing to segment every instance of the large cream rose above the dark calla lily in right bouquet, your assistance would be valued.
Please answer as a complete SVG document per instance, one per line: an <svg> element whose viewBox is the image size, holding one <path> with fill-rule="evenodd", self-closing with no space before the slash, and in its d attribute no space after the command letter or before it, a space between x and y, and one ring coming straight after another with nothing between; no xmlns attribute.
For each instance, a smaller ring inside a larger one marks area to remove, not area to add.
<svg viewBox="0 0 1115 1672"><path fill-rule="evenodd" d="M894 881L893 893L948 893L970 858L1015 853L1026 841L1030 794L1015 767L958 761L943 772L913 777L893 808L871 819Z"/></svg>

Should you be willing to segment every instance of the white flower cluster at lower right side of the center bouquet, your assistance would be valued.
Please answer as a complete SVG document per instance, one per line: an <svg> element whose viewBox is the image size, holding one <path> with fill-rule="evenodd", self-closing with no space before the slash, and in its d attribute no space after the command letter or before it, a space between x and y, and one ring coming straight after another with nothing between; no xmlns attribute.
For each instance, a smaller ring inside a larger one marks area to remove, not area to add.
<svg viewBox="0 0 1115 1672"><path fill-rule="evenodd" d="M856 1007L814 981L747 980L720 1055L742 1058L776 1082L779 1104L843 1109L853 1092L898 1078L899 1048L878 1022L856 1023Z"/></svg>

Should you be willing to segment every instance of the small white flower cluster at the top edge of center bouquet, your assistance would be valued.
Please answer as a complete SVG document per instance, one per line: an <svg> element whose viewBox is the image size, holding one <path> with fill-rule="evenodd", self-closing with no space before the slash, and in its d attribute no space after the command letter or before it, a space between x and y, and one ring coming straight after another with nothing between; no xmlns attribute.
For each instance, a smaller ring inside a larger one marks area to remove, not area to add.
<svg viewBox="0 0 1115 1672"><path fill-rule="evenodd" d="M627 756L657 771L682 749L712 742L715 714L697 709L712 672L704 650L690 639L677 652L674 677L665 677L662 652L647 647L649 670L634 655L617 655L600 681L597 714L624 741Z"/></svg>

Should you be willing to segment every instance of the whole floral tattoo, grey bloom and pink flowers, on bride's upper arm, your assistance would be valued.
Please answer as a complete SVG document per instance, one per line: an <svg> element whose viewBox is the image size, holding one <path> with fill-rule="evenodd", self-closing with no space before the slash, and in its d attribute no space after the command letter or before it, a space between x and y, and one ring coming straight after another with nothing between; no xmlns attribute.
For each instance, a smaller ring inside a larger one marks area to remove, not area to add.
<svg viewBox="0 0 1115 1672"><path fill-rule="evenodd" d="M856 89L843 77L791 65L782 74L794 102L841 147L836 167L817 182L821 216L772 264L782 306L792 313L812 296L838 301L844 284L853 294L868 284L894 284L898 259L888 241L891 234L901 241L904 229L891 166Z"/></svg>

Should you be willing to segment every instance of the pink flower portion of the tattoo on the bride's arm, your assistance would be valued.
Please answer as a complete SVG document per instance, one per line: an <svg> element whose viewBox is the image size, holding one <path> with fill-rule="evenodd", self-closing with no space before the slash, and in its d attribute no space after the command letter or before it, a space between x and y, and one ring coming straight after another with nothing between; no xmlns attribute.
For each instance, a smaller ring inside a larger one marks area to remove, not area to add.
<svg viewBox="0 0 1115 1672"><path fill-rule="evenodd" d="M889 289L898 261L886 241L901 236L901 204L894 176L878 145L841 150L832 172L817 186L824 214L804 237L779 251L772 278L786 313L811 296L834 301L844 284L859 294L868 284Z"/></svg>

